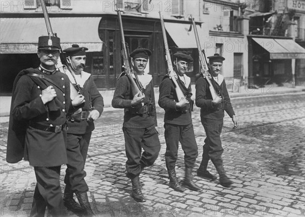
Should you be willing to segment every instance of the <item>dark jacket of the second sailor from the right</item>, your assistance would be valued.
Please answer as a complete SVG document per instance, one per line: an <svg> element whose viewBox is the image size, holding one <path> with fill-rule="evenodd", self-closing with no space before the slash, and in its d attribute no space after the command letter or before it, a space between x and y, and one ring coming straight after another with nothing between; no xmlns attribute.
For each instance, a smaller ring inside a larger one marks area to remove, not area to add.
<svg viewBox="0 0 305 217"><path fill-rule="evenodd" d="M181 84L180 80L177 79L177 83L181 87L183 93L191 93L191 84L186 88ZM176 109L176 102L178 102L178 97L175 91L175 86L172 80L166 75L160 84L160 95L159 95L159 105L164 108L164 123L177 124L177 125L188 125L192 123L192 113L191 111L182 113L179 108ZM193 103L191 96L187 97L190 104Z"/></svg>

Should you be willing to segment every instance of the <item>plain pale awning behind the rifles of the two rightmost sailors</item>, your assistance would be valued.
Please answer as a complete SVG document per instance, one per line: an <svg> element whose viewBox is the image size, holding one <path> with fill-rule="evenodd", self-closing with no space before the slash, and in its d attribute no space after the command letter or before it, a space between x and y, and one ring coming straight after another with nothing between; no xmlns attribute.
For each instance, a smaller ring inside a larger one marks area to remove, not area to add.
<svg viewBox="0 0 305 217"><path fill-rule="evenodd" d="M190 24L164 22L165 29L179 48L197 48L195 34L192 26L192 31L189 32ZM197 32L200 38L201 28L197 26ZM202 46L202 45L201 45Z"/></svg>

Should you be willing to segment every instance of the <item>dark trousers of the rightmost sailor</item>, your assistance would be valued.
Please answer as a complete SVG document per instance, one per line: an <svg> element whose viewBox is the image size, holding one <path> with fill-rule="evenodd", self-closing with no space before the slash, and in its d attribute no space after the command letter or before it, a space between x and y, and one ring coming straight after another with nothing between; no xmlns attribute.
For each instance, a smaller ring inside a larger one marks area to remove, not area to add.
<svg viewBox="0 0 305 217"><path fill-rule="evenodd" d="M204 140L203 151L207 151L214 165L222 164L221 155L224 149L221 145L220 133L224 124L223 119L212 120L201 118L206 138Z"/></svg>

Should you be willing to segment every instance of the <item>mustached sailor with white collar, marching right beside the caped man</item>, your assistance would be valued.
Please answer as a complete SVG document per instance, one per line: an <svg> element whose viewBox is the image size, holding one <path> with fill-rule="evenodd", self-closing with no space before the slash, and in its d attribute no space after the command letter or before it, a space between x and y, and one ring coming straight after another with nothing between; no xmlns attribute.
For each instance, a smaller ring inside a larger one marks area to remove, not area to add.
<svg viewBox="0 0 305 217"><path fill-rule="evenodd" d="M67 209L92 216L94 213L88 202L88 185L84 180L86 172L84 165L94 120L103 112L103 97L99 93L91 74L83 71L86 64L86 47L73 44L64 50L66 53L69 71L66 74L70 79L71 99L81 94L84 96L83 106L74 114L68 116L67 156L68 164L65 176L64 203ZM72 100L74 105L74 100ZM79 204L73 199L76 194Z"/></svg>

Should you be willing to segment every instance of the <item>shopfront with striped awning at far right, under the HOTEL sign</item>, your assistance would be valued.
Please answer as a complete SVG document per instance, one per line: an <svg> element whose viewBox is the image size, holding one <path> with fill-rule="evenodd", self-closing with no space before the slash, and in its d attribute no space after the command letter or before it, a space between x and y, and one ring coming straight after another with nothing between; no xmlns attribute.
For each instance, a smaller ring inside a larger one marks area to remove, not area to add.
<svg viewBox="0 0 305 217"><path fill-rule="evenodd" d="M295 60L305 58L305 50L291 38L249 36L249 83L258 86L291 82Z"/></svg>

